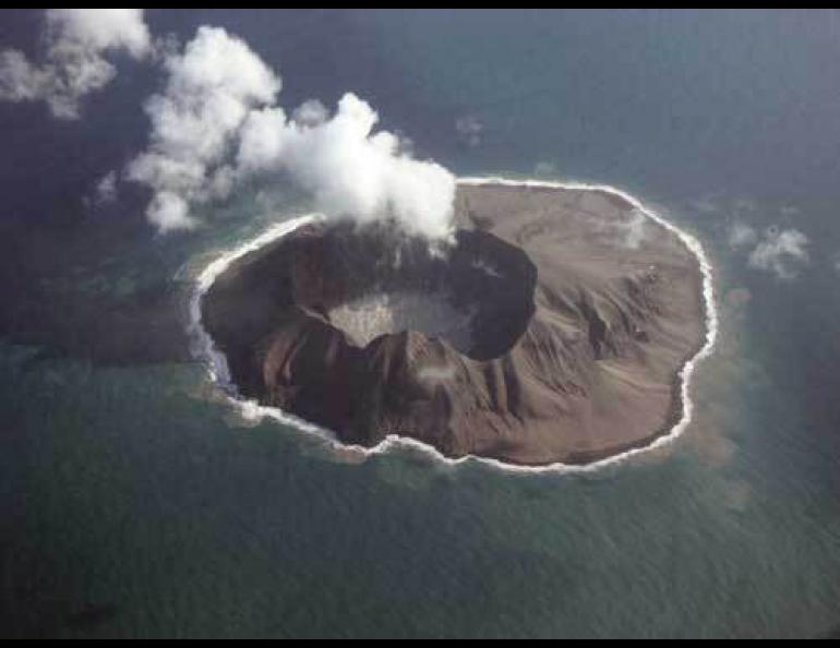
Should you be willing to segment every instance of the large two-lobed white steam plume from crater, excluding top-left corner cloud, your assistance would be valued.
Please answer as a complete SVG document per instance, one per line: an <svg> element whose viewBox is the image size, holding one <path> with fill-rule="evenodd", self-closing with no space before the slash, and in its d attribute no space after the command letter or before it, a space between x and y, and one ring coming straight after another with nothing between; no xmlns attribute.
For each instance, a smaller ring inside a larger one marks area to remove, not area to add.
<svg viewBox="0 0 840 648"><path fill-rule="evenodd" d="M146 104L148 149L128 168L130 180L153 190L147 216L161 231L193 227L191 206L224 199L238 181L286 177L328 217L451 233L455 177L377 131L379 116L356 95L334 115L309 100L289 118L276 105L279 77L221 28L201 27L165 67L166 88Z"/></svg>

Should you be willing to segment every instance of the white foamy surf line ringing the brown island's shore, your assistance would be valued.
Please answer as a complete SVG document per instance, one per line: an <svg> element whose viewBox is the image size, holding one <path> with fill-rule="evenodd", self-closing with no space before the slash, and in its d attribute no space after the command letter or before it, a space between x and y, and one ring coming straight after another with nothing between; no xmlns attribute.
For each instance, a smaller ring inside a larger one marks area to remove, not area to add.
<svg viewBox="0 0 840 648"><path fill-rule="evenodd" d="M705 335L704 344L700 348L691 356L675 377L675 389L679 384L680 403L674 409L679 407L680 418L673 424L667 427L664 430L656 431L650 436L639 442L634 442L629 447L620 449L617 452L611 452L604 457L597 457L587 463L552 463L542 465L524 465L515 464L511 461L502 461L492 457L482 457L478 455L465 455L463 457L447 457L435 447L428 445L423 442L417 441L408 436L399 436L397 434L387 435L382 442L372 446L365 447L360 445L349 445L338 441L335 435L314 423L310 423L299 417L287 413L278 408L259 405L254 400L245 400L238 396L236 385L230 381L230 375L227 368L227 360L220 351L215 348L214 341L209 334L204 329L202 324L201 303L202 298L206 291L211 288L216 278L223 274L231 263L241 259L245 254L260 249L273 241L276 241L283 237L286 237L297 230L298 228L322 220L324 217L320 214L304 214L287 221L280 223L268 228L260 236L245 241L241 245L224 251L214 261L208 263L193 283L193 289L189 296L189 322L187 323L187 333L191 339L191 352L194 357L203 360L207 364L208 376L223 391L226 393L227 398L238 407L243 417L252 418L272 418L278 422L287 425L295 427L301 432L314 434L321 440L331 443L335 448L360 453L364 456L371 456L376 454L384 454L397 447L410 447L413 449L420 449L429 456L443 461L449 466L456 466L470 460L480 461L484 465L517 472L591 472L600 468L617 465L624 463L627 459L659 447L662 447L670 442L677 439L682 432L688 427L693 420L694 403L691 399L691 380L696 370L697 363L711 355L715 343L718 336L718 312L715 305L715 292L712 281L712 268L711 264L706 256L706 253L700 244L699 240L693 235L683 231L665 218L652 209L646 207L641 201L631 195L629 193L611 187L609 184L595 184L584 182L552 182L542 180L515 180L504 177L491 176L491 177L465 177L458 178L458 184L463 185L487 185L495 184L503 187L532 187L543 189L566 189L577 191L593 191L607 193L609 195L619 197L628 203L633 208L637 209L644 216L650 218L658 225L661 225L667 230L674 233L680 241L686 247L686 249L694 254L697 259L697 263L700 271L701 278L701 292L705 303ZM676 412L675 415L676 416Z"/></svg>

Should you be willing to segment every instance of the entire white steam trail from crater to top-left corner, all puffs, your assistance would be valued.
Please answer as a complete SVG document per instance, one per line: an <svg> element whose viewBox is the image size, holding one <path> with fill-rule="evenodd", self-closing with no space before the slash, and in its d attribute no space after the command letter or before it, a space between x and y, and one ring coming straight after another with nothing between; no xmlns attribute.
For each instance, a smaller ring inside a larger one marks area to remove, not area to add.
<svg viewBox="0 0 840 648"><path fill-rule="evenodd" d="M105 56L115 51L149 57L166 73L144 105L148 146L120 175L151 189L146 216L160 231L195 227L194 207L226 199L238 182L287 178L328 217L451 235L452 173L377 130L376 111L352 93L335 112L311 99L287 116L277 104L279 76L223 28L202 26L183 48L153 46L143 10L50 9L43 61L0 52L0 99L44 100L56 117L75 119L83 97L113 79ZM113 200L116 181L116 172L106 175L94 200Z"/></svg>

